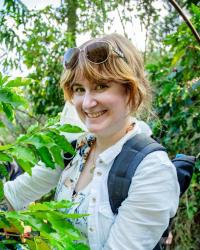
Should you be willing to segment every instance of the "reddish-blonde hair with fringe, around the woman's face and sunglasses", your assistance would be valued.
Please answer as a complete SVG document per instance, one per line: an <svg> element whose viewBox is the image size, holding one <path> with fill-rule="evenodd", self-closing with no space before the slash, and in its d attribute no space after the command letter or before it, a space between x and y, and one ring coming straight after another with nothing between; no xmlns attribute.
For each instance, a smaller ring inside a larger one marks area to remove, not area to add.
<svg viewBox="0 0 200 250"><path fill-rule="evenodd" d="M64 90L65 99L72 100L71 86L77 79L86 78L91 84L112 81L126 87L130 96L128 104L134 115L138 117L141 114L145 114L145 116L149 114L152 93L149 82L145 77L143 60L138 50L127 38L116 33L89 40L79 48L83 49L87 44L96 41L109 42L123 53L127 62L115 53L111 53L106 62L94 65L87 60L84 53L80 53L77 65L72 69L66 69L61 76L61 87Z"/></svg>

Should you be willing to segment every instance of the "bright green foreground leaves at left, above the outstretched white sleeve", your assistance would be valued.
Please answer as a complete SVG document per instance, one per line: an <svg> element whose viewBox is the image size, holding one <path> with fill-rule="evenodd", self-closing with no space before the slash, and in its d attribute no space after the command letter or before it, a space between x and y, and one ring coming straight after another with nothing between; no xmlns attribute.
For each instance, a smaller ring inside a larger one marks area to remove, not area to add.
<svg viewBox="0 0 200 250"><path fill-rule="evenodd" d="M13 88L30 83L30 80L24 81L16 78L5 81L5 77L1 79L0 105L7 118L13 120L14 109L19 105L27 106L25 99L16 94ZM62 153L74 154L74 149L61 133L81 131L79 127L70 124L61 126L59 117L49 119L44 126L36 123L29 127L26 134L20 135L14 143L0 146L0 166L4 162L15 160L29 174L31 174L31 168L40 160L45 163L46 167L55 168L56 164L64 167Z"/></svg>

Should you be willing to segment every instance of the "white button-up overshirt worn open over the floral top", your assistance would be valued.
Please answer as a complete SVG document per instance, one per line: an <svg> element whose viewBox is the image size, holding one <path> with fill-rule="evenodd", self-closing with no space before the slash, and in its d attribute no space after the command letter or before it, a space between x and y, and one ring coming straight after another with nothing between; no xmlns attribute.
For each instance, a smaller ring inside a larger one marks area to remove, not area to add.
<svg viewBox="0 0 200 250"><path fill-rule="evenodd" d="M101 153L96 161L88 205L88 241L92 250L152 250L176 213L179 184L174 165L163 151L149 154L138 166L127 199L115 216L110 208L107 189L108 172L123 144L137 133L144 132L136 123L133 131ZM149 133L149 130L148 130ZM66 177L76 179L80 156L77 154L69 170L51 170L42 164L34 167L32 177L19 176L7 182L5 195L16 209L57 188L56 199L71 199L71 193L61 196L60 187ZM61 177L60 177L61 176Z"/></svg>

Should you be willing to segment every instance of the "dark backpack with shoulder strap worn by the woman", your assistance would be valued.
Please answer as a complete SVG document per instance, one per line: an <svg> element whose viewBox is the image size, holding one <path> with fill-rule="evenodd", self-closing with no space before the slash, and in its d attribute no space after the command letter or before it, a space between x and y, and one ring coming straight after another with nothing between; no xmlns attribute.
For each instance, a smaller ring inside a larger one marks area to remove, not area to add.
<svg viewBox="0 0 200 250"><path fill-rule="evenodd" d="M72 142L75 148L76 141ZM120 154L115 158L114 163L108 175L108 194L112 212L118 213L121 203L127 198L128 190L132 177L140 162L150 153L155 151L166 151L166 149L153 138L146 134L137 134L129 139L122 147ZM70 162L66 160L70 154L64 155L65 166ZM190 185L196 158L178 154L172 160L176 167L178 182L180 185L180 196L187 190ZM169 222L170 223L170 222ZM167 229L162 237L168 236ZM165 249L165 244L160 241L153 250Z"/></svg>

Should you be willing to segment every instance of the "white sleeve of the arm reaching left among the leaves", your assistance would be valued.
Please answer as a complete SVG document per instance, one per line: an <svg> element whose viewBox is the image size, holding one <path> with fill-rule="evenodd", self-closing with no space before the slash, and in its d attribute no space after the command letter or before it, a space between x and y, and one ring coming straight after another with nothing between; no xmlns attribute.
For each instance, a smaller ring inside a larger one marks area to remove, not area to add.
<svg viewBox="0 0 200 250"><path fill-rule="evenodd" d="M32 169L32 176L24 173L4 184L4 195L15 210L25 209L30 202L40 199L56 187L62 169L51 169L39 163Z"/></svg>

